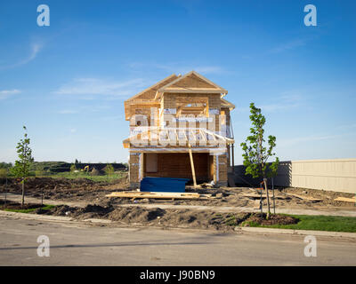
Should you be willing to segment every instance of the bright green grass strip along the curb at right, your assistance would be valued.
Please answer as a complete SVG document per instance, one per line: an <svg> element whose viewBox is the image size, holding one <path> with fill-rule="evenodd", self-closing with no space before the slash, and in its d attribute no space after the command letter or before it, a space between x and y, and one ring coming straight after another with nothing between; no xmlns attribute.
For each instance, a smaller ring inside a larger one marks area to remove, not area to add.
<svg viewBox="0 0 356 284"><path fill-rule="evenodd" d="M295 217L299 222L293 225L259 225L247 220L241 226L356 233L356 217L283 215Z"/></svg>

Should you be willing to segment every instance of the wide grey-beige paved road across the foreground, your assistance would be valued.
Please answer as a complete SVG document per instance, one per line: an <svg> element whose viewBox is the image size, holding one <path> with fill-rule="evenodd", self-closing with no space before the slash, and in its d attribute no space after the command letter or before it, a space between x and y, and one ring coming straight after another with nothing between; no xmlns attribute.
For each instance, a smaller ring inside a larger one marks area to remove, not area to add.
<svg viewBox="0 0 356 284"><path fill-rule="evenodd" d="M50 256L37 256L46 235ZM0 217L0 265L356 265L356 243L303 236L122 228Z"/></svg>

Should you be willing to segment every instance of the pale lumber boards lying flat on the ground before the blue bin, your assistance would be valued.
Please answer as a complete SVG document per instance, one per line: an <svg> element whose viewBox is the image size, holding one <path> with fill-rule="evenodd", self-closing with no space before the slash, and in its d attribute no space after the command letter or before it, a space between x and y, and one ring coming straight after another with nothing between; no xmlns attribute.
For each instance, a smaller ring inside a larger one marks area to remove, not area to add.
<svg viewBox="0 0 356 284"><path fill-rule="evenodd" d="M105 195L106 197L120 197L120 198L153 198L153 199L190 199L190 200L206 200L212 197L211 194L199 193L149 193L149 192L117 192Z"/></svg>

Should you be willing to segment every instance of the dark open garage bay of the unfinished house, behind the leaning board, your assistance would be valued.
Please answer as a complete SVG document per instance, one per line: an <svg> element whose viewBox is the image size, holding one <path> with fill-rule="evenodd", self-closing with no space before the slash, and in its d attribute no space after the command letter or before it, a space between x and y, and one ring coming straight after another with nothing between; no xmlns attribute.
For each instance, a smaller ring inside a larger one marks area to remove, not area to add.
<svg viewBox="0 0 356 284"><path fill-rule="evenodd" d="M213 156L208 153L193 153L195 174L198 183L214 177ZM190 155L188 153L145 153L143 177L180 177L192 180Z"/></svg>

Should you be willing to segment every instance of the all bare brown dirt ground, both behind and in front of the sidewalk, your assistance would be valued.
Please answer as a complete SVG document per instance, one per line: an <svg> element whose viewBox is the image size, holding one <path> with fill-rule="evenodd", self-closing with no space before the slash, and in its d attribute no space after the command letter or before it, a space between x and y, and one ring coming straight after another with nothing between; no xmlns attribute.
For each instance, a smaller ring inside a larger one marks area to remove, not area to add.
<svg viewBox="0 0 356 284"><path fill-rule="evenodd" d="M244 221L260 222L263 220L259 213L233 213L215 212L214 210L195 210L195 209L159 209L120 207L120 204L152 203L171 204L171 205L199 205L199 206L231 206L255 208L259 202L259 192L251 187L221 187L221 188L200 188L194 189L187 186L187 192L197 192L212 194L211 199L207 200L148 200L129 198L108 198L105 195L127 191L127 177L117 180L116 183L96 183L90 179L78 178L51 178L33 177L26 183L26 196L44 199L63 201L85 201L84 208L69 207L68 205L57 206L54 209L36 209L34 213L68 216L76 219L105 218L119 224L131 225L154 225L163 227L182 227L214 229L219 231L233 230L236 225ZM11 179L5 187L4 181L0 180L0 192L21 193L20 184ZM264 194L264 193L263 193ZM296 194L299 196L295 196ZM272 195L272 193L271 193ZM348 209L356 210L352 202L334 201L336 197L351 198L352 193L336 193L321 190L303 188L279 188L275 189L276 208L287 209ZM318 199L311 201L308 198ZM272 202L272 201L271 201ZM266 207L263 199L263 208ZM270 220L271 224L294 224L297 220L293 217L283 217L275 215Z"/></svg>

